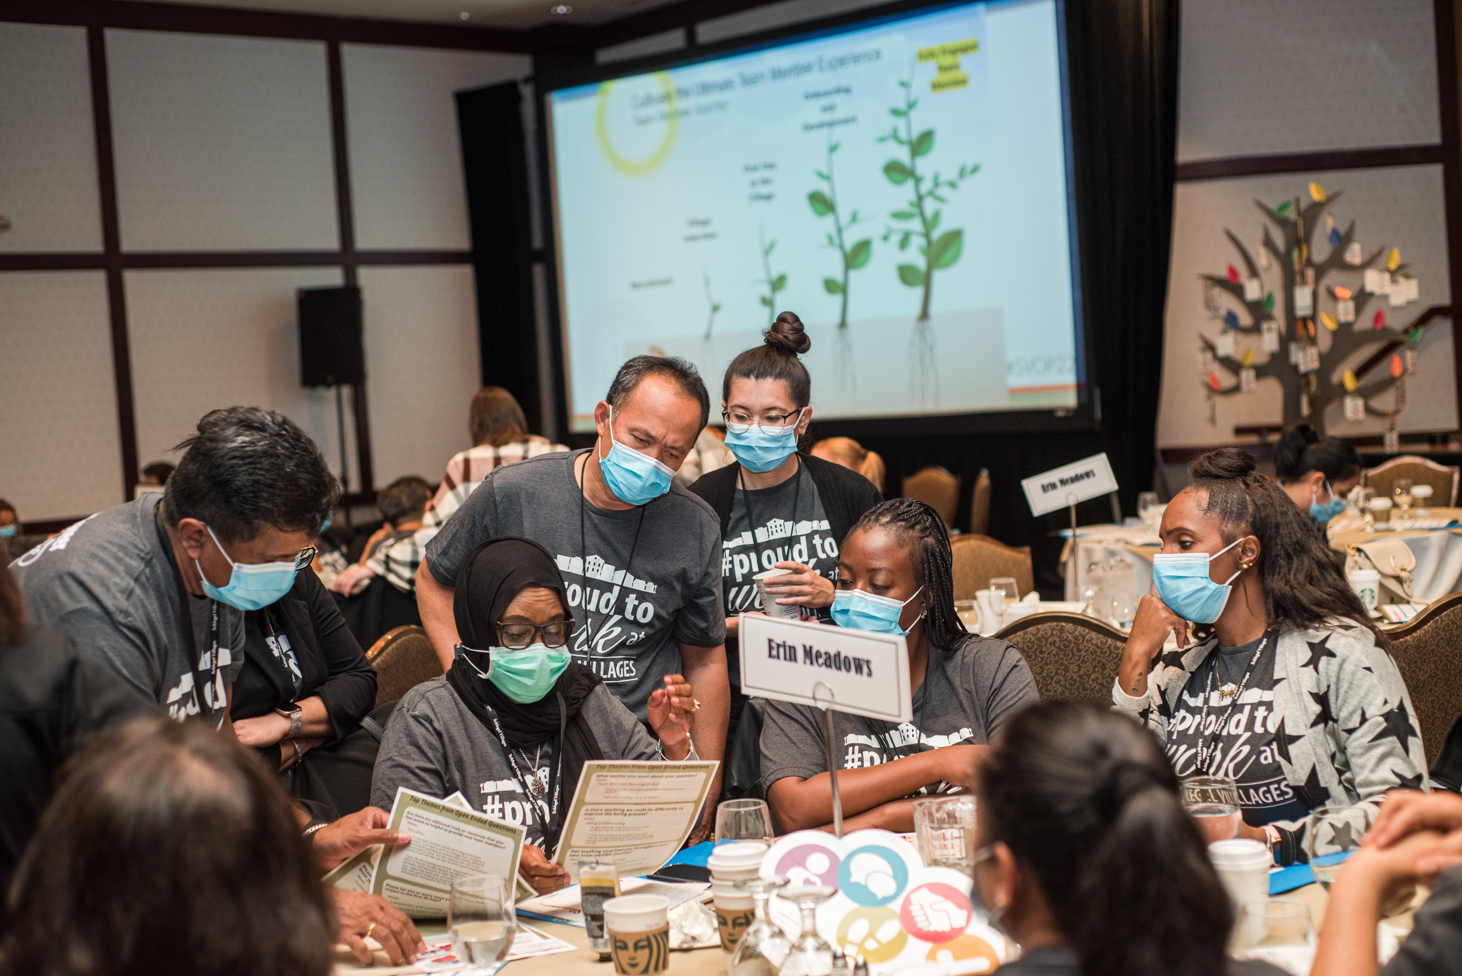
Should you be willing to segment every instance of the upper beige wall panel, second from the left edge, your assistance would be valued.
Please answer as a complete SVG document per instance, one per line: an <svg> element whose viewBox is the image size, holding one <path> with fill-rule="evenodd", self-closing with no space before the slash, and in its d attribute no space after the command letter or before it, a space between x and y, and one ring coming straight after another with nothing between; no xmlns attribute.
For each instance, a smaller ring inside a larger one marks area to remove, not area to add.
<svg viewBox="0 0 1462 976"><path fill-rule="evenodd" d="M338 247L325 44L107 31L129 251Z"/></svg>

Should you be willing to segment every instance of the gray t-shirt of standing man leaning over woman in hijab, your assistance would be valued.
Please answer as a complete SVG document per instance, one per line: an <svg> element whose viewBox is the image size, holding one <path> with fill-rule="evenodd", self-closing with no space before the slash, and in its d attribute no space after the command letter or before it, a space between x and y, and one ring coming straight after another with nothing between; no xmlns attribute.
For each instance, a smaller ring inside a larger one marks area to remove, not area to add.
<svg viewBox="0 0 1462 976"><path fill-rule="evenodd" d="M624 511L583 501L573 476L583 453L494 468L427 545L427 565L439 583L455 586L472 549L494 536L542 545L569 587L573 659L643 719L651 693L681 671L680 644L725 643L721 523L680 485Z"/></svg>

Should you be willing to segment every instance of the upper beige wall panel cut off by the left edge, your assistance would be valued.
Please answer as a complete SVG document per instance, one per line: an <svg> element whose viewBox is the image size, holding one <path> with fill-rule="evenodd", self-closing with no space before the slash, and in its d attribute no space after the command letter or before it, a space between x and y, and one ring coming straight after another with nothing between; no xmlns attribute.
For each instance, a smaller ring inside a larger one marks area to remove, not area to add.
<svg viewBox="0 0 1462 976"><path fill-rule="evenodd" d="M99 251L86 29L0 23L4 251Z"/></svg>

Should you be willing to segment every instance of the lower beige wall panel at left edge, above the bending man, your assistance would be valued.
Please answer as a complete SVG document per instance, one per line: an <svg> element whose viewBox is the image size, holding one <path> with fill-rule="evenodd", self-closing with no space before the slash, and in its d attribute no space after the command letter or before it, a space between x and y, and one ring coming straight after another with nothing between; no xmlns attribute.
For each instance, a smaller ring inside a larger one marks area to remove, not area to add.
<svg viewBox="0 0 1462 976"><path fill-rule="evenodd" d="M22 520L123 501L102 272L0 272L0 498ZM23 365L13 365L23 364Z"/></svg>

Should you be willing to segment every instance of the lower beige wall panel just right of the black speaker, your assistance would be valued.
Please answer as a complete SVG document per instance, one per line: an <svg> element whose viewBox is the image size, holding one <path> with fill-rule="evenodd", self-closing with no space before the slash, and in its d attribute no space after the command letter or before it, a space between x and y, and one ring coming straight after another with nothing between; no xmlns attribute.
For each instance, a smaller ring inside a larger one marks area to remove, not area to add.
<svg viewBox="0 0 1462 976"><path fill-rule="evenodd" d="M482 371L468 266L363 267L366 378L376 487L436 482L471 447L466 408Z"/></svg>

